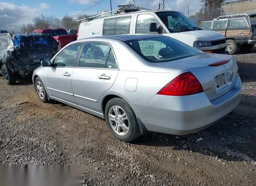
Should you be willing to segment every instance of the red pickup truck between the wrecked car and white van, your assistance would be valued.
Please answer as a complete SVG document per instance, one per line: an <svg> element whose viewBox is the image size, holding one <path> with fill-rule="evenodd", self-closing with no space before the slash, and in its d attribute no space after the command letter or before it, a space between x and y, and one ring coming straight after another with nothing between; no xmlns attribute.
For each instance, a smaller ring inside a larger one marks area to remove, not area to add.
<svg viewBox="0 0 256 186"><path fill-rule="evenodd" d="M28 34L49 34L51 35L60 45L60 48L64 47L66 44L69 44L72 41L77 40L77 35L69 35L64 28L57 29L38 29L30 32Z"/></svg>

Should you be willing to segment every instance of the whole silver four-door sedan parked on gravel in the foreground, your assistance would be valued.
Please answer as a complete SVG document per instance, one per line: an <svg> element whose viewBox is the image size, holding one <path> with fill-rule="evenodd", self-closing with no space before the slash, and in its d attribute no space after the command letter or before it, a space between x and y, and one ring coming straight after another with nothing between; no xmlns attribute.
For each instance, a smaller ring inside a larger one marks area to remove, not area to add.
<svg viewBox="0 0 256 186"><path fill-rule="evenodd" d="M241 99L231 55L204 53L166 36L77 40L41 63L32 80L42 102L54 99L106 119L125 142L149 131L200 131Z"/></svg>

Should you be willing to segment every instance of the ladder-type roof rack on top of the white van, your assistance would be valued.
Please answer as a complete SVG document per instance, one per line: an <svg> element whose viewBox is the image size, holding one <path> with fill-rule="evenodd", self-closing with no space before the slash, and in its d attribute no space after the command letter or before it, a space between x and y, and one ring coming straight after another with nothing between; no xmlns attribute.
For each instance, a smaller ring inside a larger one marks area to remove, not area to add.
<svg viewBox="0 0 256 186"><path fill-rule="evenodd" d="M87 17L87 18L83 18L83 19L80 19L80 20L76 20L76 22L78 21L91 21L95 18L98 18L104 14L108 14L108 13L111 13L111 12L116 12L116 14L125 14L125 13L129 13L129 12L137 12L137 11L140 11L140 10L150 10L148 8L142 8L142 7L138 7L138 6L134 6L134 4L125 4L125 5L118 5L118 9L116 10L112 10L110 12L105 12L103 14L99 14L99 15L96 15L96 16L91 16L91 17Z"/></svg>

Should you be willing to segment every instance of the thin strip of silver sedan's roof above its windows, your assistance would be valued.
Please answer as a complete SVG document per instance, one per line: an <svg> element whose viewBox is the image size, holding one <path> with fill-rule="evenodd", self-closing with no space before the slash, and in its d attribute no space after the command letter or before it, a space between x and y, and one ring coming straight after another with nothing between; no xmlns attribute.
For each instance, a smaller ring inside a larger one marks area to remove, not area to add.
<svg viewBox="0 0 256 186"><path fill-rule="evenodd" d="M104 39L104 38L109 38L109 39L117 39L121 41L128 41L128 40L137 40L137 39L143 39L143 38L155 38L155 37L167 37L167 36L162 36L162 35L153 35L153 34L123 34L123 35L110 35L110 36L99 36L99 37L92 37L91 39ZM81 40L88 40L90 38L85 38L85 39L80 39L77 41Z"/></svg>

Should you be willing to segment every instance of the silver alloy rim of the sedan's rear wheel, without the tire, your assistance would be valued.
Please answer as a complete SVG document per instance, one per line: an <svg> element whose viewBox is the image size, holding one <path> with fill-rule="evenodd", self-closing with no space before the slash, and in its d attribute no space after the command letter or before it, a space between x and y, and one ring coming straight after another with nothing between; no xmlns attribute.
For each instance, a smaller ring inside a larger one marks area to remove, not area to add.
<svg viewBox="0 0 256 186"><path fill-rule="evenodd" d="M108 120L112 129L120 136L125 136L130 131L129 118L121 107L114 105L108 112Z"/></svg>

